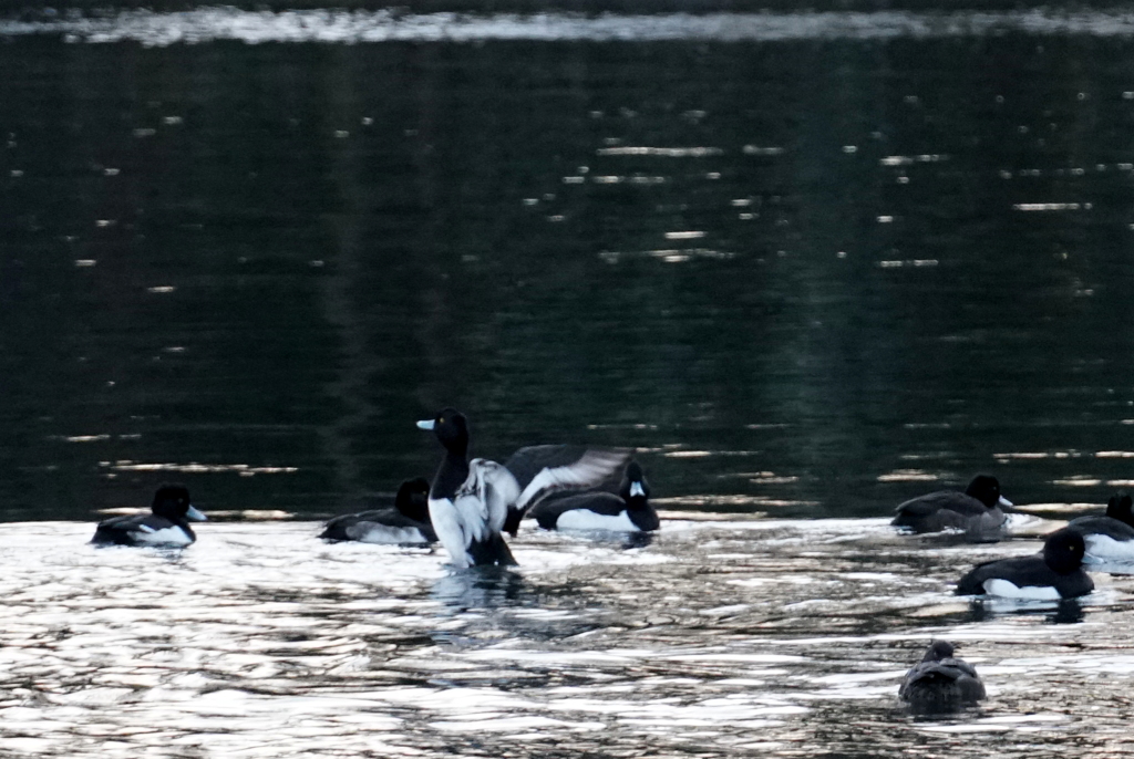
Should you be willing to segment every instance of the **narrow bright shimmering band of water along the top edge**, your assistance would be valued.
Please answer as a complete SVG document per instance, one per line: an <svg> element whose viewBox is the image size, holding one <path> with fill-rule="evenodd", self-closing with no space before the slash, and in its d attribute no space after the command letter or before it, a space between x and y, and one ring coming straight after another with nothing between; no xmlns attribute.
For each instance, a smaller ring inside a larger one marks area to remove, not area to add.
<svg viewBox="0 0 1134 759"><path fill-rule="evenodd" d="M787 42L1031 35L1134 36L1134 15L1057 10L958 12L714 12L586 16L570 12L469 15L390 10L184 12L121 10L93 17L0 20L0 36L61 35L68 42L139 42L147 46L238 41L355 44L379 42Z"/></svg>

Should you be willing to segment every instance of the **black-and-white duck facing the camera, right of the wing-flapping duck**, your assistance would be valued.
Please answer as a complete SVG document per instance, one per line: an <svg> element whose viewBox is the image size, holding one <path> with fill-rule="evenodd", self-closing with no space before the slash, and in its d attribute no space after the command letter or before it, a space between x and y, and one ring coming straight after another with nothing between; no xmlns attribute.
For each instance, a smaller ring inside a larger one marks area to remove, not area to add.
<svg viewBox="0 0 1134 759"><path fill-rule="evenodd" d="M541 501L528 511L545 530L651 532L661 522L650 505L650 485L637 461L626 464L618 494L582 493Z"/></svg>

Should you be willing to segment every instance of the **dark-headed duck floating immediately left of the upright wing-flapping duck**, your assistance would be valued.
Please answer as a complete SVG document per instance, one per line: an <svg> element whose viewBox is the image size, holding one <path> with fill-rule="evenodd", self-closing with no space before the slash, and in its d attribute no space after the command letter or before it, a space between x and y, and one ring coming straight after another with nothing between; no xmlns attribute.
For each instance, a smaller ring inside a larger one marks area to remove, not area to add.
<svg viewBox="0 0 1134 759"><path fill-rule="evenodd" d="M319 537L332 543L437 543L437 532L429 520L429 480L424 477L407 479L398 487L392 508L336 517L327 522Z"/></svg>

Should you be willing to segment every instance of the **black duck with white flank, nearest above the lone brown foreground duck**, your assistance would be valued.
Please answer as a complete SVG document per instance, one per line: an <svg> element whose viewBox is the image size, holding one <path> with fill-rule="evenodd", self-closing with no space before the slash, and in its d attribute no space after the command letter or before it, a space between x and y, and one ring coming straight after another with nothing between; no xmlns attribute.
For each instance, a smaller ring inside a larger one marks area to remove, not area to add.
<svg viewBox="0 0 1134 759"><path fill-rule="evenodd" d="M1047 537L1041 553L978 564L957 582L957 595L1031 600L1085 596L1094 590L1094 581L1083 571L1085 553L1082 532L1065 527Z"/></svg>

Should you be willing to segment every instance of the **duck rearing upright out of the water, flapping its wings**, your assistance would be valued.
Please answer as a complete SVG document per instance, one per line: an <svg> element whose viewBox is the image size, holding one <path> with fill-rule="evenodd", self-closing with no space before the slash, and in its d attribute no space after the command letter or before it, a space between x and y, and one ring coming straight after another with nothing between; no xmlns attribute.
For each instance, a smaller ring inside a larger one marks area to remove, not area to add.
<svg viewBox="0 0 1134 759"><path fill-rule="evenodd" d="M458 569L515 566L516 558L500 532L509 514L518 520L527 506L551 491L590 487L625 462L603 452L584 453L574 463L544 466L521 486L503 464L468 460L468 419L455 408L417 423L432 430L445 447L430 484L429 514L438 540Z"/></svg>

